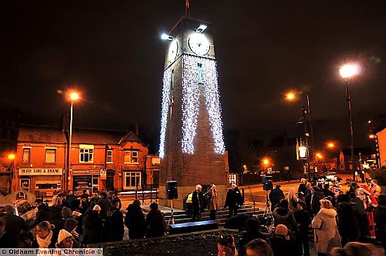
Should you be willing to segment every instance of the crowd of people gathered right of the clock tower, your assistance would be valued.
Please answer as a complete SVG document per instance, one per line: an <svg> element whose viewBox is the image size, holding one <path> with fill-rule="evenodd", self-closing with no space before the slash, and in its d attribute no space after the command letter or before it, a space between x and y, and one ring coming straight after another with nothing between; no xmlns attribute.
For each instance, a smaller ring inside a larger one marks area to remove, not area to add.
<svg viewBox="0 0 386 256"><path fill-rule="evenodd" d="M312 233L319 256L374 255L375 247L369 242L376 238L386 245L386 195L376 180L361 187L350 182L347 193L339 183L330 188L328 182L312 186L302 179L298 192L290 188L286 195L277 185L269 194L274 234L262 234L259 220L252 217L245 222L237 252L231 250L232 239L224 243L219 238L218 255L307 256Z"/></svg>

